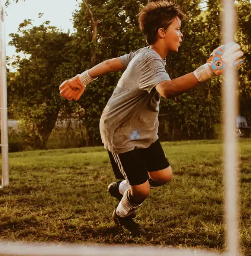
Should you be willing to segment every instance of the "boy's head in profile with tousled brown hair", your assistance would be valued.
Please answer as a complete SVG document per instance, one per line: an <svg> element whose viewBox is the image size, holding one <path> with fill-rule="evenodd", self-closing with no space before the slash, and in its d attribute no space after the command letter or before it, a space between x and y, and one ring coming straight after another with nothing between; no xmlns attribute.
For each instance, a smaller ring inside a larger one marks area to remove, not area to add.
<svg viewBox="0 0 251 256"><path fill-rule="evenodd" d="M181 8L166 0L152 1L142 7L139 15L139 26L146 37L147 44L153 45L159 39L171 51L178 51L181 43L181 22L184 13Z"/></svg>

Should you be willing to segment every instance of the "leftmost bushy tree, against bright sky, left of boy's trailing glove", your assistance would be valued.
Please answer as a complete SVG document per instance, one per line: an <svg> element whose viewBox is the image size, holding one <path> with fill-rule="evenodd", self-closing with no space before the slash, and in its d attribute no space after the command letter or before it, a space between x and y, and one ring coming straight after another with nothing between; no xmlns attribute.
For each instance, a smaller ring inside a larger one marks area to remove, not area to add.
<svg viewBox="0 0 251 256"><path fill-rule="evenodd" d="M71 68L66 71L67 63L70 66L67 60L72 38L49 22L36 27L31 20L25 20L19 25L18 33L10 36L9 44L27 56L16 57L12 63L18 73L8 82L10 110L32 125L36 147L44 148L60 109L67 105L59 97L55 78L62 71L65 77L72 75Z"/></svg>

